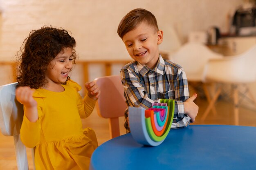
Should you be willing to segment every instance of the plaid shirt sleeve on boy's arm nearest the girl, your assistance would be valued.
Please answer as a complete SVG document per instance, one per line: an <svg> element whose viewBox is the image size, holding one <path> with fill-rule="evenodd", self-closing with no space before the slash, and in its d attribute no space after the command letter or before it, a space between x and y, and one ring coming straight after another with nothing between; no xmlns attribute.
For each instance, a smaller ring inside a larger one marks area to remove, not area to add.
<svg viewBox="0 0 256 170"><path fill-rule="evenodd" d="M122 69L120 75L127 104L131 107L150 108L154 101L148 97L135 71Z"/></svg>

